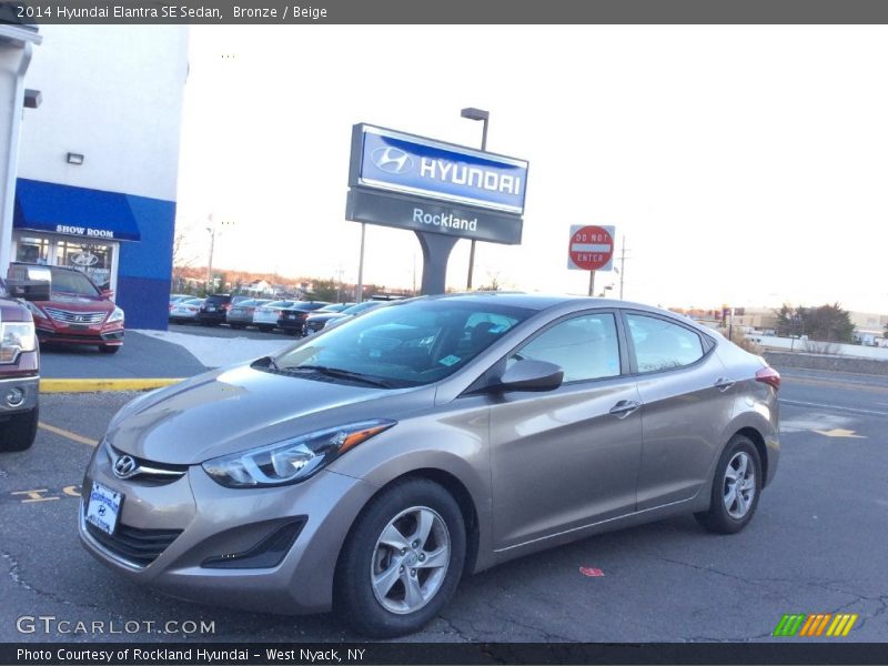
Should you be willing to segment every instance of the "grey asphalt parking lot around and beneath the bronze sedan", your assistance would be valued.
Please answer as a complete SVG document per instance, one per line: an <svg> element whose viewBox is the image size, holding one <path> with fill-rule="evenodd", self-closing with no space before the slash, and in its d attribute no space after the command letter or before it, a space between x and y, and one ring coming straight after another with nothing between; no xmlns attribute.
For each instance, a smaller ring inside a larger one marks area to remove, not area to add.
<svg viewBox="0 0 888 666"><path fill-rule="evenodd" d="M22 616L144 627L100 637L111 640L360 640L333 615L170 599L82 549L74 524L82 472L132 395L44 395L34 447L0 456L0 640L93 639L57 625L22 634ZM745 532L713 535L687 516L528 556L464 579L444 615L404 639L787 642L799 638L770 636L784 614L856 613L842 640L887 642L888 377L786 370L780 396L780 468ZM213 633L175 630L201 620Z"/></svg>

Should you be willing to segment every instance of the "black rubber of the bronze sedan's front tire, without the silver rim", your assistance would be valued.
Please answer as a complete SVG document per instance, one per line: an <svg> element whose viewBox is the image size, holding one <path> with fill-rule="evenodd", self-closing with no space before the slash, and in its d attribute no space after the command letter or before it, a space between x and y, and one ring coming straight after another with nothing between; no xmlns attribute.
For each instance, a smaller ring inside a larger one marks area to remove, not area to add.
<svg viewBox="0 0 888 666"><path fill-rule="evenodd" d="M447 528L451 556L443 582L424 606L412 613L392 613L376 599L370 573L386 525L413 507L428 507L441 516ZM374 638L417 632L441 613L456 591L465 552L465 522L453 496L427 478L396 482L373 497L352 526L336 566L336 612L355 632Z"/></svg>

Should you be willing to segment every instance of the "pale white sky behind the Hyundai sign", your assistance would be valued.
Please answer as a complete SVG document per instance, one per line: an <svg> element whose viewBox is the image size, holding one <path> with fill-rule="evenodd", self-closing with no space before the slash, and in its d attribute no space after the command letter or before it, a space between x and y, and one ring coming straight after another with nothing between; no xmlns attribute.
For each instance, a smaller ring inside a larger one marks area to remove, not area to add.
<svg viewBox="0 0 888 666"><path fill-rule="evenodd" d="M529 173L523 242L478 243L475 286L586 293L569 229L598 224L628 300L888 313L886 63L882 26L193 27L183 256L206 264L212 213L215 266L356 281L352 125L477 147L477 107ZM366 226L364 283L421 275L413 232Z"/></svg>

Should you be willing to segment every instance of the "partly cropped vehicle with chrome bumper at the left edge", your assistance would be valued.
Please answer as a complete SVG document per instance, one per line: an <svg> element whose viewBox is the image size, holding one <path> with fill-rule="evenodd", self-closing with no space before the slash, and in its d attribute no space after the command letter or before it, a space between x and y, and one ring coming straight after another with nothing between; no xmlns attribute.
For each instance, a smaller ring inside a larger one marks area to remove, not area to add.
<svg viewBox="0 0 888 666"><path fill-rule="evenodd" d="M49 271L40 269L39 285L27 269L19 273L29 287L16 285L16 279L0 280L0 452L30 448L37 436L40 344L31 309L20 299L49 297Z"/></svg>

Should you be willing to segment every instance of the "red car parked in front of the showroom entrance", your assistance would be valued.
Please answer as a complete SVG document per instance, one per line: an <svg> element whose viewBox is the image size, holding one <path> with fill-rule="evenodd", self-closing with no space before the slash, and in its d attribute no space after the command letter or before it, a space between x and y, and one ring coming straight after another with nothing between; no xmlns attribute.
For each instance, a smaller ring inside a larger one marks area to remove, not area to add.
<svg viewBox="0 0 888 666"><path fill-rule="evenodd" d="M10 279L20 278L33 264L13 263ZM51 274L48 301L29 301L37 335L46 344L90 344L104 354L123 346L123 311L84 273L62 266L39 266Z"/></svg>

